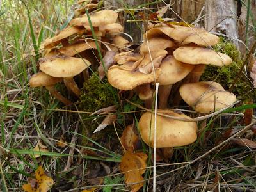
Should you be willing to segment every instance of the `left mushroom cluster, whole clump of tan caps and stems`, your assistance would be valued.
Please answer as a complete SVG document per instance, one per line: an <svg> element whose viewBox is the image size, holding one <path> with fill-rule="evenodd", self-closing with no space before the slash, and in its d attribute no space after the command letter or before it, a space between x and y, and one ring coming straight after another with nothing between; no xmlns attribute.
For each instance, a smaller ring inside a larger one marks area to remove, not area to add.
<svg viewBox="0 0 256 192"><path fill-rule="evenodd" d="M79 1L79 4L81 7L77 8L68 26L52 38L47 38L41 45L40 72L34 74L29 81L31 87L45 86L56 99L66 105L71 102L54 89L56 83L63 81L67 90L79 97L81 91L74 77L81 74L84 81L88 67L98 67L99 57L95 51L97 44L101 54L104 54L111 50L110 46L118 51L116 47L121 46L120 40L123 41L122 45L129 43L119 36L123 27L116 23L118 13L112 10L97 11L97 4L88 4L88 1ZM105 46L102 42L106 42Z"/></svg>

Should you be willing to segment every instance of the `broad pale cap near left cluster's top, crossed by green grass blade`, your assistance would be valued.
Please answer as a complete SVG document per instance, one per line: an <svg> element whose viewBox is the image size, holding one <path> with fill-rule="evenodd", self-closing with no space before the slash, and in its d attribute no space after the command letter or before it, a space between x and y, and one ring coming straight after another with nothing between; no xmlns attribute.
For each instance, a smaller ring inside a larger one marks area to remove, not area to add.
<svg viewBox="0 0 256 192"><path fill-rule="evenodd" d="M90 20L93 27L104 26L107 24L113 24L116 22L118 13L112 10L102 10L90 14ZM83 17L77 17L70 21L71 26L90 26L87 15Z"/></svg>

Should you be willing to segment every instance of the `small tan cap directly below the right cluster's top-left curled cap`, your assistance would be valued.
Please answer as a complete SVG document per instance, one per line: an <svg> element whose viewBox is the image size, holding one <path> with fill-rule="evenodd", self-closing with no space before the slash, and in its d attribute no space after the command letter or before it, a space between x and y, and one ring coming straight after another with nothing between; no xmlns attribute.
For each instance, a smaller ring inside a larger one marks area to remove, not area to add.
<svg viewBox="0 0 256 192"><path fill-rule="evenodd" d="M154 52L159 49L166 49L168 47L173 47L175 44L170 41L166 40L165 38L150 38L148 42L143 42L143 44L140 47L140 54L143 54L143 52Z"/></svg>

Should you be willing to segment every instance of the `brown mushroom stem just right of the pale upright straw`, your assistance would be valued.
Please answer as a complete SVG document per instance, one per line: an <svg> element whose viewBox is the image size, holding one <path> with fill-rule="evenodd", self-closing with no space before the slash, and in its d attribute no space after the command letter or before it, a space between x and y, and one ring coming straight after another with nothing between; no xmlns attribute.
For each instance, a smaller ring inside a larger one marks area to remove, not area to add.
<svg viewBox="0 0 256 192"><path fill-rule="evenodd" d="M159 98L158 108L159 109L167 108L168 97L170 95L171 90L172 90L172 84L159 86L159 92L158 92L158 98Z"/></svg>

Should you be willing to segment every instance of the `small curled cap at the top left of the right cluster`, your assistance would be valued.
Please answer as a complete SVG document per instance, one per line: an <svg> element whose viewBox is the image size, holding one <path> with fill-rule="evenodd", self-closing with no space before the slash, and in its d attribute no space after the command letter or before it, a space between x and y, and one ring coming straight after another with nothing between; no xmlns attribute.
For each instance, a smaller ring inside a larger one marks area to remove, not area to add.
<svg viewBox="0 0 256 192"><path fill-rule="evenodd" d="M173 31L173 28L171 28L170 26L160 26L160 27L151 28L146 33L143 34L143 39L149 40L150 38L154 38L156 36L161 36L163 34L170 36L172 31Z"/></svg>

